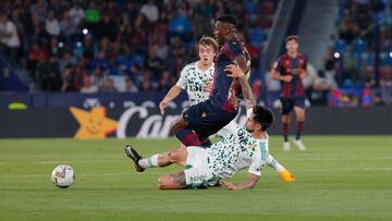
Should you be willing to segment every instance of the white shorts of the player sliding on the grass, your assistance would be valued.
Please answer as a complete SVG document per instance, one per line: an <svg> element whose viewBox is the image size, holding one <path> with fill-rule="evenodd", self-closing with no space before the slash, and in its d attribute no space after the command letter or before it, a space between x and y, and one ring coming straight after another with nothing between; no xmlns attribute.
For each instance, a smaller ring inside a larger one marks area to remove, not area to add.
<svg viewBox="0 0 392 221"><path fill-rule="evenodd" d="M212 173L208 169L207 155L208 149L201 147L187 147L185 180L186 186L193 187L207 187L215 185L216 179L212 179Z"/></svg>

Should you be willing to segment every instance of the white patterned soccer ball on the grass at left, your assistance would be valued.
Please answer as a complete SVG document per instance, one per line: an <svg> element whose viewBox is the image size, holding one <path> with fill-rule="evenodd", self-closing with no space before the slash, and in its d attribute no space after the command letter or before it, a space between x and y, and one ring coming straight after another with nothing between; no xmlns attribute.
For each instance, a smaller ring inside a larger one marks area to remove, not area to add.
<svg viewBox="0 0 392 221"><path fill-rule="evenodd" d="M60 164L52 172L52 183L60 188L66 188L75 180L75 171L66 164Z"/></svg>

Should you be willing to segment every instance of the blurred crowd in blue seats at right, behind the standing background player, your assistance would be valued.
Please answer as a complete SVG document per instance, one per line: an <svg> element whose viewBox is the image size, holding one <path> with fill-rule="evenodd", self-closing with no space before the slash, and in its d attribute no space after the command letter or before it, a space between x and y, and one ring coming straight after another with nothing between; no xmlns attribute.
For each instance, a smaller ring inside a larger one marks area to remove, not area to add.
<svg viewBox="0 0 392 221"><path fill-rule="evenodd" d="M340 1L336 34L331 36L332 46L327 49L322 61L323 74L333 76L339 88L368 89L375 106L392 105L391 10L392 3L387 0Z"/></svg>

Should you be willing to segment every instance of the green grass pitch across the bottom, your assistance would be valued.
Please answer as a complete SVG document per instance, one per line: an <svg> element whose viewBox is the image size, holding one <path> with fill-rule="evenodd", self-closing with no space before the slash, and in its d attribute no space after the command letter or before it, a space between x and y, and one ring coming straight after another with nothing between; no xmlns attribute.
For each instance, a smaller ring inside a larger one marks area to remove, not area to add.
<svg viewBox="0 0 392 221"><path fill-rule="evenodd" d="M137 174L130 142L143 156L174 139L0 139L0 220L392 220L391 136L305 136L308 151L272 155L297 177L284 183L270 168L254 189L159 191L160 174ZM54 187L52 169L68 163L76 181ZM241 172L234 183L246 179Z"/></svg>

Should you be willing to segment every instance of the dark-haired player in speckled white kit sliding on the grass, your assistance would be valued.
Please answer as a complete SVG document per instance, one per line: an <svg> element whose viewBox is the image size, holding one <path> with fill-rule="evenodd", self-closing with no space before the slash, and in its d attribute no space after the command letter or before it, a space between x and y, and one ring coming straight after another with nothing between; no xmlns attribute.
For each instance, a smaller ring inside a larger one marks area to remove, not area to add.
<svg viewBox="0 0 392 221"><path fill-rule="evenodd" d="M210 148L191 146L186 149L173 149L142 159L134 148L127 146L126 155L135 162L138 172L152 167L168 167L172 163L185 167L182 172L159 177L158 187L161 189L212 186L220 179L232 177L245 168L249 168L246 182L234 185L220 181L220 185L230 189L252 188L267 164L269 137L266 130L273 122L273 114L262 106L254 106L250 110L245 127L236 125L230 136L213 144Z"/></svg>

